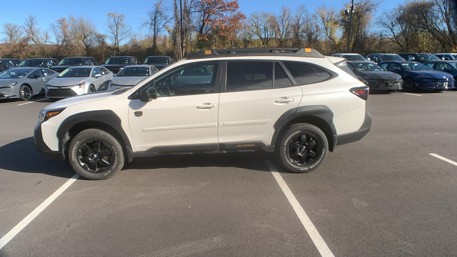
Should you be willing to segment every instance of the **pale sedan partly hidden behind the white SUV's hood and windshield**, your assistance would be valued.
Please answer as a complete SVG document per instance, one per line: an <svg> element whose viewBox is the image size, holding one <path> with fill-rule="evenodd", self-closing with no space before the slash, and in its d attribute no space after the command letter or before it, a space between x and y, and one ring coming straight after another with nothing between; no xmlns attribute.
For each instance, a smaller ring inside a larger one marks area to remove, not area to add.
<svg viewBox="0 0 457 257"><path fill-rule="evenodd" d="M159 70L152 65L126 66L111 80L108 90L112 91L135 86L138 82L153 75L157 71Z"/></svg>

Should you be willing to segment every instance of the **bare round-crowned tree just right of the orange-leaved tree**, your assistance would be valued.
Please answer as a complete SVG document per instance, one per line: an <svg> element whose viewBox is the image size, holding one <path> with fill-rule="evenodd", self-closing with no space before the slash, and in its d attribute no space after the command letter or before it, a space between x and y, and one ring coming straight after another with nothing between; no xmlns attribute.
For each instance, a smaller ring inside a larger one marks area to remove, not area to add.
<svg viewBox="0 0 457 257"><path fill-rule="evenodd" d="M249 17L252 33L259 37L262 46L268 45L275 34L275 16L270 12L255 11Z"/></svg>

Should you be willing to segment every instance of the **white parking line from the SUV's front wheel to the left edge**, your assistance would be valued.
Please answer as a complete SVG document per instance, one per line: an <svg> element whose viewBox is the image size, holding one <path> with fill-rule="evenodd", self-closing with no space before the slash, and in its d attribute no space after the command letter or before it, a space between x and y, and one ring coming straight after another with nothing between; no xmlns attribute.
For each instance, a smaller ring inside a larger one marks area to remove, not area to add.
<svg viewBox="0 0 457 257"><path fill-rule="evenodd" d="M0 239L0 249L3 248L13 237L17 235L17 233L21 232L23 228L25 228L35 217L38 216L50 203L52 203L62 192L65 191L73 182L75 182L78 177L80 177L79 174L74 174L73 177L71 177L65 184L63 184L59 189L57 189L56 192L54 192L48 199L44 200L43 203L38 205L37 208L35 208L30 214L27 215L27 217L24 218L19 224L17 224L10 232L6 233L5 236L3 236Z"/></svg>

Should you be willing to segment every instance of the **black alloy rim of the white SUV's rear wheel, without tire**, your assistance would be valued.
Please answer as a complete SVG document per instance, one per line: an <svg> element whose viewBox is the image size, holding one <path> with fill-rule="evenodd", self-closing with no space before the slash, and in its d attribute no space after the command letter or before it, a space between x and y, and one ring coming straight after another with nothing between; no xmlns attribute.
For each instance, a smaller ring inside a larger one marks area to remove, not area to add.
<svg viewBox="0 0 457 257"><path fill-rule="evenodd" d="M296 166L307 166L317 161L322 145L310 133L296 134L287 143L287 158Z"/></svg>

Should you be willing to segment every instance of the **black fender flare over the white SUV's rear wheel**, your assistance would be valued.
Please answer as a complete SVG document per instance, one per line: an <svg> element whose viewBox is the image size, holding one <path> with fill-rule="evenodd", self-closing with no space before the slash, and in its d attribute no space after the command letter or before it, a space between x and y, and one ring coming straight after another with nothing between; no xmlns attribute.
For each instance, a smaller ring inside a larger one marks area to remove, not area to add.
<svg viewBox="0 0 457 257"><path fill-rule="evenodd" d="M314 124L324 131L329 140L329 151L333 151L336 145L336 129L333 124L333 112L325 105L311 105L297 107L284 112L274 124L275 133L271 139L271 145L276 143L278 136L283 129L293 123L307 122L307 120L316 120L323 124ZM313 122L311 122L313 123ZM323 125L323 126L322 126Z"/></svg>

